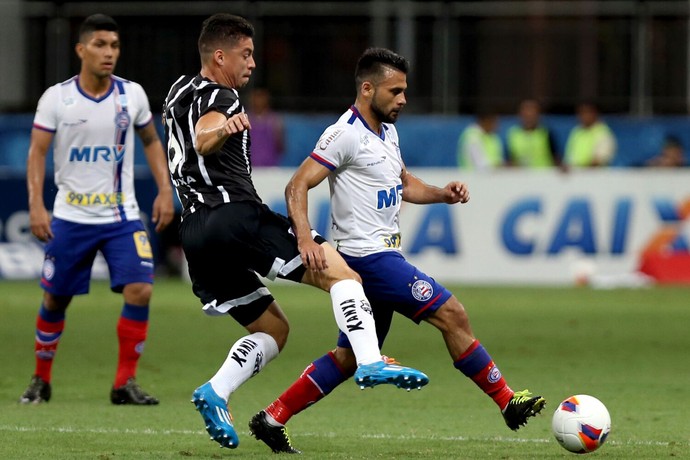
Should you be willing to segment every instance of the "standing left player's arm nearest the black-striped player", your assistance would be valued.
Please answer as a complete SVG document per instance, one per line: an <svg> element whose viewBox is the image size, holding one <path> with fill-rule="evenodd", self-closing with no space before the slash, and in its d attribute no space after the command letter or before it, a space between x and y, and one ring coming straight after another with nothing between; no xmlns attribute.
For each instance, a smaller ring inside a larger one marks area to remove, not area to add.
<svg viewBox="0 0 690 460"><path fill-rule="evenodd" d="M160 232L172 222L175 213L167 157L156 132L156 127L152 122L138 129L137 134L141 143L144 144L146 161L158 187L158 195L153 200L151 220L156 224L156 231Z"/></svg>

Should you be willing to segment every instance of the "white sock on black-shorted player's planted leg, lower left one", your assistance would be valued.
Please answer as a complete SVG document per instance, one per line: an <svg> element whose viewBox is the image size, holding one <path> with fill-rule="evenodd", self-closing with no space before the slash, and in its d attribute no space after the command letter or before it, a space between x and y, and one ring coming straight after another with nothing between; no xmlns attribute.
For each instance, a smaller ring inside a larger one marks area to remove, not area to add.
<svg viewBox="0 0 690 460"><path fill-rule="evenodd" d="M258 374L278 356L278 344L264 332L255 332L239 339L230 349L228 357L209 382L218 396L226 401L233 391Z"/></svg>

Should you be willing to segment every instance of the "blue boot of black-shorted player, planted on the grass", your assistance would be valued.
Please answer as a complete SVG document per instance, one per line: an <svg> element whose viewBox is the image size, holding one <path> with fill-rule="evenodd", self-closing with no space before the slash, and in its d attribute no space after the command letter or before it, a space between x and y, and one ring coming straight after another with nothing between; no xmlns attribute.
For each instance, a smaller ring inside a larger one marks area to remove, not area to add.
<svg viewBox="0 0 690 460"><path fill-rule="evenodd" d="M205 383L192 394L192 402L204 419L206 431L211 439L221 447L234 449L240 444L228 405L223 398L213 390L211 383Z"/></svg>

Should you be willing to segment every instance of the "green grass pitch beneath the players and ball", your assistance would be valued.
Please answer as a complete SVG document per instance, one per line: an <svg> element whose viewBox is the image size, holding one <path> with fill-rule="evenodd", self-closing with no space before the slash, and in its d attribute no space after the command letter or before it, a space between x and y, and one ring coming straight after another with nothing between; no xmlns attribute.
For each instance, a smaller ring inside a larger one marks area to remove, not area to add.
<svg viewBox="0 0 690 460"><path fill-rule="evenodd" d="M567 458L573 454L551 434L551 413L576 393L598 397L611 413L609 439L591 457L690 458L690 289L449 287L508 383L547 399L544 414L510 431L494 403L452 367L433 327L396 318L384 352L424 370L430 384L408 393L346 382L288 425L301 458ZM53 399L22 406L41 291L33 281L0 281L0 458L273 458L247 422L332 348L336 328L326 294L271 288L291 335L283 353L233 395L240 446L221 450L189 400L243 330L204 315L189 285L155 285L138 380L159 406L109 402L121 298L104 283L70 307Z"/></svg>

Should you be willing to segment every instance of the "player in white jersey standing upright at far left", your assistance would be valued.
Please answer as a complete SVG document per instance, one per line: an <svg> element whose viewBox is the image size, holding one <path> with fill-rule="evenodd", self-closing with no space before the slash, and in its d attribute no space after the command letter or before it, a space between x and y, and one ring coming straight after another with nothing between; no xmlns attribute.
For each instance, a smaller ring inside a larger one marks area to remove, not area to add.
<svg viewBox="0 0 690 460"><path fill-rule="evenodd" d="M147 335L154 268L134 196L135 131L158 186L152 212L156 231L173 217L166 157L146 93L137 83L113 75L120 55L115 20L103 14L86 18L76 52L79 74L45 91L31 131L27 161L31 232L46 245L43 302L36 319L36 368L20 402L50 400L53 357L66 309L73 296L88 293L91 266L100 251L108 264L110 287L124 299L111 402L158 404L135 380ZM43 201L51 144L58 188L52 218Z"/></svg>

